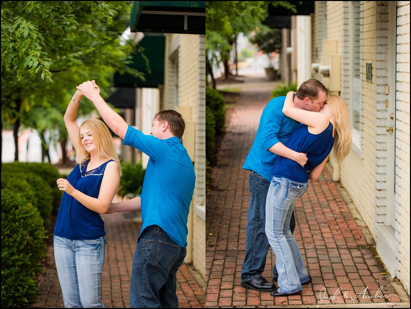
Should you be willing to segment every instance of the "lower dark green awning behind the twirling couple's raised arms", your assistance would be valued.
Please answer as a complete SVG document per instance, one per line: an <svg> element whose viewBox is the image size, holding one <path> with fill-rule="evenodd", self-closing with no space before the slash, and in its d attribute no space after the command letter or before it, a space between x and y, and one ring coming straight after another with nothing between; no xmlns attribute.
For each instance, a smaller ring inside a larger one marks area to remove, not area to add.
<svg viewBox="0 0 411 309"><path fill-rule="evenodd" d="M138 46L144 48L143 53L148 59L151 72L148 72L145 59L141 54L133 52L133 61L128 66L143 72L145 81L128 74L121 75L117 72L114 75L115 87L157 88L158 85L164 84L164 35L145 34Z"/></svg>

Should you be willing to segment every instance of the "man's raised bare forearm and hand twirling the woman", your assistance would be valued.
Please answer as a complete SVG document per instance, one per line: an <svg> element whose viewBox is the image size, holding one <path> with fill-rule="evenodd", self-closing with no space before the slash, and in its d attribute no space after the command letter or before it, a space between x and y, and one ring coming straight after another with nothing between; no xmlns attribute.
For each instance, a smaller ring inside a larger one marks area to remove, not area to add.
<svg viewBox="0 0 411 309"><path fill-rule="evenodd" d="M100 88L95 83L87 81L77 86L77 89L81 90L84 96L96 106L97 111L99 111L100 116L109 128L124 139L128 124L103 100L100 96Z"/></svg>

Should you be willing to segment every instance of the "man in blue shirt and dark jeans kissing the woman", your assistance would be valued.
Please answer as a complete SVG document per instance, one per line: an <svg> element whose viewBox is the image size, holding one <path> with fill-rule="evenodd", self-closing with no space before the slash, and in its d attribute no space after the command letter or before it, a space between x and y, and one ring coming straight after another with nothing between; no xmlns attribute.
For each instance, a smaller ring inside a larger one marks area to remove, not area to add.
<svg viewBox="0 0 411 309"><path fill-rule="evenodd" d="M323 107L326 96L325 86L315 79L310 79L301 84L293 101L295 107L318 112ZM261 275L270 249L265 232L266 199L273 176L271 171L274 158L277 155L283 156L300 163L301 166L307 162L306 154L297 153L283 144L293 129L300 124L283 114L285 98L285 96L273 98L264 108L257 134L242 167L250 171L251 196L247 213L246 256L241 268L241 286L261 292L276 289L274 283L269 283ZM291 232L294 232L294 228L293 213L290 222ZM273 281L278 278L275 265L272 277Z"/></svg>

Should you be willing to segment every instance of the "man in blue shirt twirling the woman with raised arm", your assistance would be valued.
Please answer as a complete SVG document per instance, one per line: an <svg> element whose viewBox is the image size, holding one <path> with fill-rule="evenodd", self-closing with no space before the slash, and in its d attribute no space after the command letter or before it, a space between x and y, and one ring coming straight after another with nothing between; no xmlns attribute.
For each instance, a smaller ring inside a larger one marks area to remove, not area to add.
<svg viewBox="0 0 411 309"><path fill-rule="evenodd" d="M143 225L137 240L130 282L130 307L177 308L176 273L187 246L187 221L194 192L193 163L181 144L184 120L176 111L157 113L151 135L127 125L101 98L94 82L81 84L106 124L123 144L150 156L142 192L129 201L111 204L107 213L137 211Z"/></svg>

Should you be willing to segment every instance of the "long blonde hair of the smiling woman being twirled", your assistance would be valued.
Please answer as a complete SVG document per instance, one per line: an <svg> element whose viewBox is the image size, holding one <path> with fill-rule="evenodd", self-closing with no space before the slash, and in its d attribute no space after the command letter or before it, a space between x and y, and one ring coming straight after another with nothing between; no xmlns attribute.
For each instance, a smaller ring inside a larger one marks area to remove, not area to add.
<svg viewBox="0 0 411 309"><path fill-rule="evenodd" d="M93 142L96 145L97 152L100 156L106 157L108 159L113 159L120 165L119 156L117 155L116 149L114 148L113 138L108 131L107 126L103 121L99 119L88 119L85 120L80 128L85 128L90 130L93 137ZM77 152L76 161L83 165L90 158L90 153L84 148L81 143L81 136L79 130L79 147Z"/></svg>

